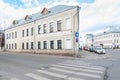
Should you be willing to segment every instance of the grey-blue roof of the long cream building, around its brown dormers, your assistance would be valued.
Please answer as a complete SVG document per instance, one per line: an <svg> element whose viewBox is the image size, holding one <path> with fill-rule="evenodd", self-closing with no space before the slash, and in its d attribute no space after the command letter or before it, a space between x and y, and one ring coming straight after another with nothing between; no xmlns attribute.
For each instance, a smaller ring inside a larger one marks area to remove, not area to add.
<svg viewBox="0 0 120 80"><path fill-rule="evenodd" d="M41 12L38 12L38 13L35 13L32 15L29 15L31 17L30 20L24 20L24 18L17 20L18 24L14 24L14 25L12 24L8 29L17 27L19 25L23 25L23 24L26 24L26 23L29 23L29 22L32 22L32 21L35 21L38 19L42 19L42 18L45 18L48 16L52 16L54 14L61 13L61 12L64 12L64 11L67 11L67 10L70 10L70 9L73 9L76 7L77 6L57 5L55 7L49 8L48 11L50 11L50 13L48 13L48 14L42 15Z"/></svg>

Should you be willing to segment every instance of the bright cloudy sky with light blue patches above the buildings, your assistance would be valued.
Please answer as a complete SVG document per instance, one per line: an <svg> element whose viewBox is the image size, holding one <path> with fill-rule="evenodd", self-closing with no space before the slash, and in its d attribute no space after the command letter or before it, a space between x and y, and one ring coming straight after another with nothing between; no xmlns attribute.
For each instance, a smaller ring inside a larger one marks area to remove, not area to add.
<svg viewBox="0 0 120 80"><path fill-rule="evenodd" d="M59 4L79 5L80 32L98 32L120 25L120 0L0 0L0 26Z"/></svg>

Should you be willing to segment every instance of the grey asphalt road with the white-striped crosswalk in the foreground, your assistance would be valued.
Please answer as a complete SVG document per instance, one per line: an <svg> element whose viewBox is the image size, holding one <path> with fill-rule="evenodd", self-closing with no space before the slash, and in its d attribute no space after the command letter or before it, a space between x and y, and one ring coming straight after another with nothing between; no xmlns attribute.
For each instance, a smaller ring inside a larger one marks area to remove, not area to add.
<svg viewBox="0 0 120 80"><path fill-rule="evenodd" d="M82 58L0 52L0 80L120 79L120 50L80 54Z"/></svg>

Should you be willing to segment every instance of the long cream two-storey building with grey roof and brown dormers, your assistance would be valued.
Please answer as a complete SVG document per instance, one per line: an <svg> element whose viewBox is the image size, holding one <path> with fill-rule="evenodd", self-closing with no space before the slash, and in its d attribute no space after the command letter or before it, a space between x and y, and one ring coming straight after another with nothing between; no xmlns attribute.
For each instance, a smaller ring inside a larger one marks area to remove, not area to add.
<svg viewBox="0 0 120 80"><path fill-rule="evenodd" d="M79 30L79 7L58 5L14 20L5 30L6 51L35 53L74 52Z"/></svg>

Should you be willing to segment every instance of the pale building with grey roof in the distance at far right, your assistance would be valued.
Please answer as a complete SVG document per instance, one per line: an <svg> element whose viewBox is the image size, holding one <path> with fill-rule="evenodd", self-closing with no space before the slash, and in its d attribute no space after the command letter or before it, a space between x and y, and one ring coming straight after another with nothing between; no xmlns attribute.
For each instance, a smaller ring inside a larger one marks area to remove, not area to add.
<svg viewBox="0 0 120 80"><path fill-rule="evenodd" d="M93 45L103 48L120 48L120 27L111 26L108 31L95 35Z"/></svg>

